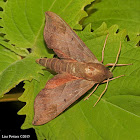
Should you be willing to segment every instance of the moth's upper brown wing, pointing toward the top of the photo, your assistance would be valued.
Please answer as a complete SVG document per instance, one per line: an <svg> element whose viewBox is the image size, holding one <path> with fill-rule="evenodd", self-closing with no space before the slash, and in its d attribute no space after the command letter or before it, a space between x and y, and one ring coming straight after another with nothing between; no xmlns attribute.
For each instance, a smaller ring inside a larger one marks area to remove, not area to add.
<svg viewBox="0 0 140 140"><path fill-rule="evenodd" d="M45 15L44 39L48 48L53 49L59 58L100 63L64 20L53 12L46 12Z"/></svg>

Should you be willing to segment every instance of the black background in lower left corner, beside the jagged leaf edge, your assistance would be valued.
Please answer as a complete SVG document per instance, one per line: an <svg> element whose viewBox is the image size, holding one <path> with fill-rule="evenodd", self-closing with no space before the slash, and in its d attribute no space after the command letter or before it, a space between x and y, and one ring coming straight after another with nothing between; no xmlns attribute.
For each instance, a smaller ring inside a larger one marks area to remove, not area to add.
<svg viewBox="0 0 140 140"><path fill-rule="evenodd" d="M23 83L20 83L7 94L22 94L24 91L23 85ZM17 115L17 112L23 108L25 104L26 103L20 101L0 102L0 139L2 139L2 135L30 135L30 138L21 139L37 140L34 129L21 129L21 125L24 123L26 116Z"/></svg>

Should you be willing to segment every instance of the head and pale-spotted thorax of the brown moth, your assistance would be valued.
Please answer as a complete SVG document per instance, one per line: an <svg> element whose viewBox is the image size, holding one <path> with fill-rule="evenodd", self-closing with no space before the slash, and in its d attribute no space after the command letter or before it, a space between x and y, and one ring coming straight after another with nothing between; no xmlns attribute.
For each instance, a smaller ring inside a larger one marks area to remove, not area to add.
<svg viewBox="0 0 140 140"><path fill-rule="evenodd" d="M85 77L87 80L93 80L100 83L112 76L112 72L102 64L87 63L87 66L85 67Z"/></svg>

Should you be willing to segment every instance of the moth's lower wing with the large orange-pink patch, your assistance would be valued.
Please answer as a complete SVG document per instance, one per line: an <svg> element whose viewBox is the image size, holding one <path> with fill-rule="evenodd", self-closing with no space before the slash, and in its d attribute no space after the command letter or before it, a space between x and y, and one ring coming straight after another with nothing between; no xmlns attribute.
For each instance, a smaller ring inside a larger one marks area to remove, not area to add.
<svg viewBox="0 0 140 140"><path fill-rule="evenodd" d="M94 84L70 74L57 74L35 99L33 124L42 125L54 119Z"/></svg>

